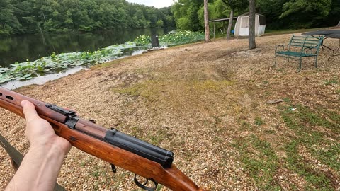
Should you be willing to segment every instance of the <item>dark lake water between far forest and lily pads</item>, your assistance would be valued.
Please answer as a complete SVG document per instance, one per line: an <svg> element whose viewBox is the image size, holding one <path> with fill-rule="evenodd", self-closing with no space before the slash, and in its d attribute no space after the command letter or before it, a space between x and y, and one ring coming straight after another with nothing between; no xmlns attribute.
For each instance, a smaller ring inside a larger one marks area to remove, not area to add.
<svg viewBox="0 0 340 191"><path fill-rule="evenodd" d="M174 28L106 30L93 33L35 34L0 37L0 66L47 57L55 52L94 51L135 40L139 35L164 35Z"/></svg>

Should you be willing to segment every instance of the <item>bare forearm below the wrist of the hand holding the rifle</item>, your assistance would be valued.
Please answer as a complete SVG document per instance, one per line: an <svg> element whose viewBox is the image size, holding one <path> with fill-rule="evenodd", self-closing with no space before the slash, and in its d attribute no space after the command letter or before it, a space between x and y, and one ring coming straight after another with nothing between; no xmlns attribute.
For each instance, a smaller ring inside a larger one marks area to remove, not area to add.
<svg viewBox="0 0 340 191"><path fill-rule="evenodd" d="M32 146L6 191L53 190L64 155L57 146Z"/></svg>

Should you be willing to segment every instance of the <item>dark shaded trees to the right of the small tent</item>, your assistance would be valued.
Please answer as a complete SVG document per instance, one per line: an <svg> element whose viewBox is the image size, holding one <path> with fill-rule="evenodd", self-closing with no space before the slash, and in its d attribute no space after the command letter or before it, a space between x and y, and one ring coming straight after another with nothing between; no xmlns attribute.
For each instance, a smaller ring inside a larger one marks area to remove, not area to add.
<svg viewBox="0 0 340 191"><path fill-rule="evenodd" d="M338 0L259 0L257 6L268 28L276 30L331 26L340 18Z"/></svg>

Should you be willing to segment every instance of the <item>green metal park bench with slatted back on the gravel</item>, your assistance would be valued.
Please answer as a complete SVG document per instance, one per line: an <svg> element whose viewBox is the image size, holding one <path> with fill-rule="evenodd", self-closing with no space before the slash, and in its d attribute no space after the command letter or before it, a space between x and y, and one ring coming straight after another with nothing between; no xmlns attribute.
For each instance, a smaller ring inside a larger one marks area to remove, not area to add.
<svg viewBox="0 0 340 191"><path fill-rule="evenodd" d="M302 57L315 57L315 67L317 68L317 55L319 54L319 48L322 46L324 37L314 37L310 35L295 36L290 38L288 43L288 50L285 50L284 45L278 45L275 49L275 63L276 66L277 57L285 57L288 59L297 59L300 61L299 71L302 68Z"/></svg>

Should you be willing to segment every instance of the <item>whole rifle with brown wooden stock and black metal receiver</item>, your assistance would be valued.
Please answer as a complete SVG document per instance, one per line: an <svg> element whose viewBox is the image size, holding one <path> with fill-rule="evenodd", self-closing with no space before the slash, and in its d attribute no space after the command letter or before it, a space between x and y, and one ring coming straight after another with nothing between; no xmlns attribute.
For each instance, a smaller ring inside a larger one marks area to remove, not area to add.
<svg viewBox="0 0 340 191"><path fill-rule="evenodd" d="M176 168L173 164L173 152L131 137L117 129L106 129L94 122L82 120L72 110L44 103L0 87L1 108L25 117L21 107L22 100L33 103L38 115L50 122L55 133L67 139L72 146L111 163L114 173L115 166L135 173L134 181L142 189L156 190L159 183L171 190L203 191ZM146 178L146 182L140 183L137 175ZM154 183L154 187L147 187L148 181Z"/></svg>

